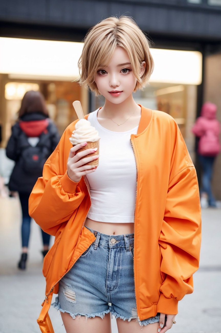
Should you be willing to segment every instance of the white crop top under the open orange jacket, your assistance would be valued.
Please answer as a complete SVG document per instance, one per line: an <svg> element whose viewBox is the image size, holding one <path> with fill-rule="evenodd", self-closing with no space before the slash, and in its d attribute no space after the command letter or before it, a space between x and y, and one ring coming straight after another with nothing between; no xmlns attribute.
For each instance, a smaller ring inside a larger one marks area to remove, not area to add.
<svg viewBox="0 0 221 333"><path fill-rule="evenodd" d="M91 193L88 217L100 222L133 223L136 195L136 163L130 143L131 134L113 132L97 120L98 110L88 116L100 136L99 166L87 174Z"/></svg>

